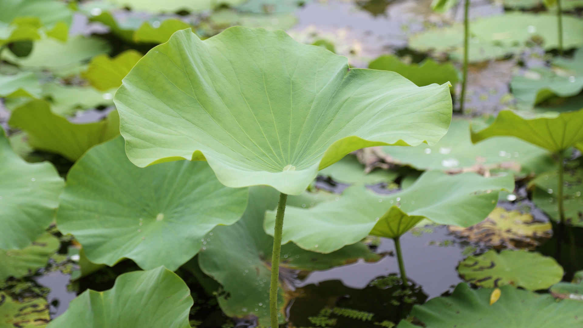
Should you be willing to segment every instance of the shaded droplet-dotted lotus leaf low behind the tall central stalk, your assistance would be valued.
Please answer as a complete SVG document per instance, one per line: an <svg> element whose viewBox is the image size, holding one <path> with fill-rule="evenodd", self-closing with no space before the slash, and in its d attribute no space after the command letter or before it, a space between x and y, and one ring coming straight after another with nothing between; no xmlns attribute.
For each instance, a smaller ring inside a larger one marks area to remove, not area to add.
<svg viewBox="0 0 583 328"><path fill-rule="evenodd" d="M232 317L257 316L259 324L269 324L269 278L273 238L262 229L266 210L278 204L278 191L266 186L250 188L250 197L243 218L230 226L217 226L205 239L198 254L198 264L203 273L223 285L226 295L217 296L223 312ZM312 206L326 200L326 194L306 193L290 196L287 203ZM324 270L348 264L363 258L380 259L363 243L343 247L337 252L319 254L300 249L293 243L282 245L280 277L289 276L293 270ZM187 265L192 265L189 262ZM196 263L194 263L196 265ZM285 284L280 284L278 302L283 313L290 301Z"/></svg>

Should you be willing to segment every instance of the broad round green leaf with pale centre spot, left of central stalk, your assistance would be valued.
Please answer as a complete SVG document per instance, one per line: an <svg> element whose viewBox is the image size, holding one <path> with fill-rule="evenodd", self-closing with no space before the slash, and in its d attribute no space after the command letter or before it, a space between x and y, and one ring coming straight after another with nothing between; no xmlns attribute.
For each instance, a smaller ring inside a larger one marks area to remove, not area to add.
<svg viewBox="0 0 583 328"><path fill-rule="evenodd" d="M145 269L175 270L198 253L212 228L236 222L246 204L247 190L224 187L204 162L138 168L118 137L69 170L57 224L93 263L128 258Z"/></svg>

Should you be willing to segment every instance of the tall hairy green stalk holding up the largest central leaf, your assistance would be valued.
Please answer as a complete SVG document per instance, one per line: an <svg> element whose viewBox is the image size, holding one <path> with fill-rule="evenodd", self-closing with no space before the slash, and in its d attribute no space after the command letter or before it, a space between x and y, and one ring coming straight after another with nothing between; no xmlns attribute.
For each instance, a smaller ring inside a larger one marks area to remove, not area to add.
<svg viewBox="0 0 583 328"><path fill-rule="evenodd" d="M275 233L273 233L273 252L271 254L271 284L269 285L269 315L271 327L279 326L278 320L278 282L279 255L282 250L283 214L286 211L287 194L279 194L278 212L275 215Z"/></svg>

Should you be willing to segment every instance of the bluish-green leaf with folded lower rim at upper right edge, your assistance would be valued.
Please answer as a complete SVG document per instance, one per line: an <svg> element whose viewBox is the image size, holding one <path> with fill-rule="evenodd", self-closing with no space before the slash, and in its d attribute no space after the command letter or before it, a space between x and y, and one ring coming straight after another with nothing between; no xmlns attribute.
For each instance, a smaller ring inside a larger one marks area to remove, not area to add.
<svg viewBox="0 0 583 328"><path fill-rule="evenodd" d="M553 65L554 70L535 68L512 78L510 86L518 106L531 109L550 97L576 96L583 90L583 49L577 50L572 60L559 58Z"/></svg>

